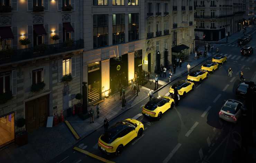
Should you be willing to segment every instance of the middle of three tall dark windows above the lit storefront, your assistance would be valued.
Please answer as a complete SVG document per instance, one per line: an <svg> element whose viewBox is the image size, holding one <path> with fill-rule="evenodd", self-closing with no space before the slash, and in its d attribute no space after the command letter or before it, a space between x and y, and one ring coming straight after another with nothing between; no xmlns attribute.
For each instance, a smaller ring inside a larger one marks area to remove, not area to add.
<svg viewBox="0 0 256 163"><path fill-rule="evenodd" d="M125 42L125 14L113 14L113 44Z"/></svg>

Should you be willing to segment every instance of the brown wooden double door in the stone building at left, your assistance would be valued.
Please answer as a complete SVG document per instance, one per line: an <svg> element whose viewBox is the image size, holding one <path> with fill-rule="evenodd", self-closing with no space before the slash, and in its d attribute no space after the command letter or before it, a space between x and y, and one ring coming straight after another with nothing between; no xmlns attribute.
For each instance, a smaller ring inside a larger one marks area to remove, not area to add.
<svg viewBox="0 0 256 163"><path fill-rule="evenodd" d="M46 126L49 112L49 96L42 96L26 102L26 128L32 132L39 127Z"/></svg>

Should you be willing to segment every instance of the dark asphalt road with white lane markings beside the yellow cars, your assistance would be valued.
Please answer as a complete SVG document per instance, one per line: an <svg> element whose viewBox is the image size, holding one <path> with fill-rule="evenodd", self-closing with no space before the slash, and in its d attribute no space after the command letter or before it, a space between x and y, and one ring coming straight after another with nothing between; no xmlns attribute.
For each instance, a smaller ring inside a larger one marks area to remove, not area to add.
<svg viewBox="0 0 256 163"><path fill-rule="evenodd" d="M247 45L256 46L256 33ZM194 91L180 100L180 105L168 110L160 121L141 116L144 122L144 135L130 142L121 156L108 156L98 150L97 142L103 128L81 140L76 146L105 159L120 163L231 163L232 152L236 146L233 134L240 133L240 122L232 124L219 119L218 112L227 99L242 99L235 96L239 83L237 73L243 70L244 77L250 80L256 72L256 50L252 56L243 57L240 47L220 46L220 53L227 54L228 62L210 74L202 84L196 84ZM194 69L200 69L201 64ZM228 77L227 70L232 67L234 74ZM186 74L177 80L185 80ZM166 95L172 84L158 91L154 96ZM132 118L141 113L141 107L149 99L141 101L110 122ZM79 163L100 162L72 148L55 157L50 162Z"/></svg>

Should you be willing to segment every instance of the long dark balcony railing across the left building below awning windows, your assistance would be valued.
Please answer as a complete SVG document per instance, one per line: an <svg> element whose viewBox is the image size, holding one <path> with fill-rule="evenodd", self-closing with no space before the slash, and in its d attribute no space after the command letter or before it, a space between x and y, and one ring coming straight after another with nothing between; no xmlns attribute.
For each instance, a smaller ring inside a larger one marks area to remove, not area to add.
<svg viewBox="0 0 256 163"><path fill-rule="evenodd" d="M19 50L2 50L0 51L0 64L33 59L37 57L44 57L52 54L79 50L82 48L84 48L84 41L80 39L73 42L69 41L58 44L44 45L43 48L35 46Z"/></svg>

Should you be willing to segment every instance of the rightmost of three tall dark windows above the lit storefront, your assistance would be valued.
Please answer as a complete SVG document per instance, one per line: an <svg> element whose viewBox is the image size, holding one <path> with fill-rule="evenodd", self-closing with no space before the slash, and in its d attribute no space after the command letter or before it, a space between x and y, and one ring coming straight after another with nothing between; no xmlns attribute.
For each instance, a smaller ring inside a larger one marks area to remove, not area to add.
<svg viewBox="0 0 256 163"><path fill-rule="evenodd" d="M130 13L129 14L129 41L139 39L139 14Z"/></svg>

